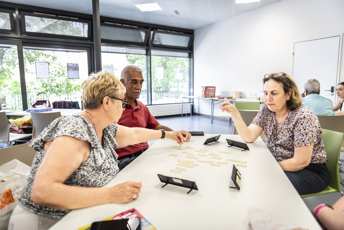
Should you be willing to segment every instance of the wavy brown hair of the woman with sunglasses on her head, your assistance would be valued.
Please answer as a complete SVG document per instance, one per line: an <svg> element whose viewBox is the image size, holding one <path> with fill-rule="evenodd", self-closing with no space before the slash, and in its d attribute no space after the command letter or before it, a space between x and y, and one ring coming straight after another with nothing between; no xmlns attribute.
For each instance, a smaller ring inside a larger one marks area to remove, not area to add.
<svg viewBox="0 0 344 230"><path fill-rule="evenodd" d="M301 98L299 89L297 88L295 81L289 75L287 75L284 72L280 72L280 73L283 73L284 75L275 77L274 74L276 73L271 73L267 77L264 77L263 84L265 84L265 82L269 80L273 80L282 84L283 91L286 94L289 91L291 91L290 99L287 100L287 107L291 111L294 111L302 104L302 98Z"/></svg>

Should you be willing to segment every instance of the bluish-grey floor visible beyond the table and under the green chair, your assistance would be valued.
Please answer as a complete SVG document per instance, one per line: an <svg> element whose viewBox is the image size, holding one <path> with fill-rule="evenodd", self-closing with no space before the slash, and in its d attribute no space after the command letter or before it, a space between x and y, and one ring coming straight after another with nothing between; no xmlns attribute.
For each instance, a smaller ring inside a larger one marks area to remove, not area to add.
<svg viewBox="0 0 344 230"><path fill-rule="evenodd" d="M203 131L204 133L213 134L231 134L232 122L229 120L223 120L214 118L213 124L210 122L210 117L205 116L173 116L157 118L159 123L163 126L170 127L173 130L186 130L186 131ZM150 141L149 145L154 144L155 141ZM0 147L7 147L7 144L0 143ZM341 154L341 159L344 159L344 153ZM341 178L344 180L344 173L340 173ZM344 186L342 191L344 191ZM332 193L327 195L320 195L316 197L303 198L303 201L311 210L320 203L334 204L341 197L340 193Z"/></svg>

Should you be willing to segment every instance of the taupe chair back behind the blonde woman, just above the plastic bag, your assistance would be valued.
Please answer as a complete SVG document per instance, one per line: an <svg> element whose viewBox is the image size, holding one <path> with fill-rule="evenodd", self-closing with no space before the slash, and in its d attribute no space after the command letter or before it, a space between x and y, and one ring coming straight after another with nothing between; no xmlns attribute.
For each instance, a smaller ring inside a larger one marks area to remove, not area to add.
<svg viewBox="0 0 344 230"><path fill-rule="evenodd" d="M31 166L35 155L36 151L29 147L29 143L3 148L0 149L0 165L17 159Z"/></svg>

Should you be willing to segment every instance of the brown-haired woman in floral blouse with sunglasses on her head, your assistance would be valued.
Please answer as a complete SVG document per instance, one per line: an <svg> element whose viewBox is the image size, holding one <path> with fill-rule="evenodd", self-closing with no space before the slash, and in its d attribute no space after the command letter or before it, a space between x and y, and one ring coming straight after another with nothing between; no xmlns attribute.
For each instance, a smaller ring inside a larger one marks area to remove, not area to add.
<svg viewBox="0 0 344 230"><path fill-rule="evenodd" d="M265 105L247 127L234 105L221 108L232 115L246 142L264 131L267 147L300 195L323 191L330 182L322 132L313 111L302 105L295 82L286 73L266 74L263 79Z"/></svg>

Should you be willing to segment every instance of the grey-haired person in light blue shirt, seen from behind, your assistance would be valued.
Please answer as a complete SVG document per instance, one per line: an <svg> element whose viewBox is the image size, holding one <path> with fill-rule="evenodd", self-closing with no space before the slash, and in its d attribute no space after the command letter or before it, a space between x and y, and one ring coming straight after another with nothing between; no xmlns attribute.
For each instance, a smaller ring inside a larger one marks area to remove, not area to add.
<svg viewBox="0 0 344 230"><path fill-rule="evenodd" d="M316 79L309 79L303 85L305 89L305 98L302 104L312 109L315 115L334 116L333 101L331 99L320 96L320 82Z"/></svg>

